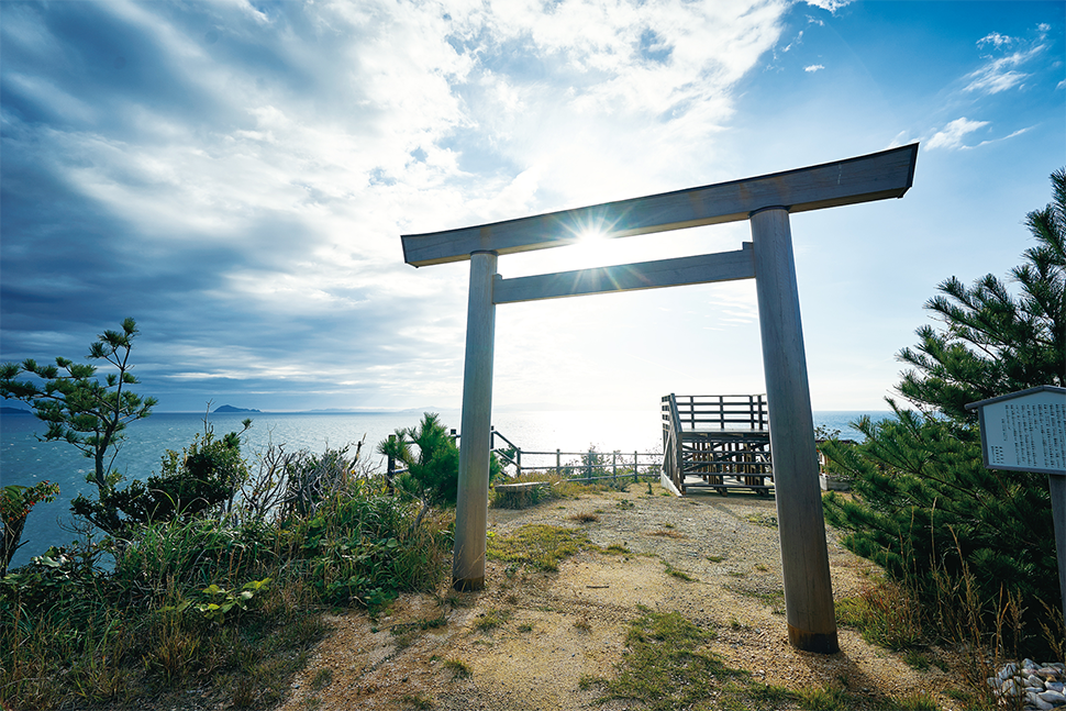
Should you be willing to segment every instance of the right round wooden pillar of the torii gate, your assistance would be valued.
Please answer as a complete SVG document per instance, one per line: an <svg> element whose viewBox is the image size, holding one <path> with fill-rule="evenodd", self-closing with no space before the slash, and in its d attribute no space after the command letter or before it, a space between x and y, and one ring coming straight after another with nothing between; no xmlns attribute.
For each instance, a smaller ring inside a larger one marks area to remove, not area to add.
<svg viewBox="0 0 1066 711"><path fill-rule="evenodd" d="M840 651L788 210L751 215L789 643Z"/></svg>

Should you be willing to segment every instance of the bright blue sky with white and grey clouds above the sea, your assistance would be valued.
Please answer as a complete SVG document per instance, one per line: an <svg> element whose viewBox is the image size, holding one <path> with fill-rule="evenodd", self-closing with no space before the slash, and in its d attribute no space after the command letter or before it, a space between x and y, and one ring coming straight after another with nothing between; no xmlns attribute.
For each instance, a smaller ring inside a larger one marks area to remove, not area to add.
<svg viewBox="0 0 1066 711"><path fill-rule="evenodd" d="M1066 166L1066 7L460 0L0 5L0 360L137 320L159 410L457 408L466 263L400 234L920 141L901 200L791 220L815 410L882 410L950 276ZM702 254L744 223L500 258ZM497 409L764 390L754 282L501 305Z"/></svg>

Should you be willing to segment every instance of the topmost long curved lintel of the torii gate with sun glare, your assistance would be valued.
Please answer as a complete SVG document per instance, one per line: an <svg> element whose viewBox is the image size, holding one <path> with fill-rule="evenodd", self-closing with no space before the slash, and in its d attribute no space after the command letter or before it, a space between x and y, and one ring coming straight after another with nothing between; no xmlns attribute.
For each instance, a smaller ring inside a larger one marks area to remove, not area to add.
<svg viewBox="0 0 1066 711"><path fill-rule="evenodd" d="M407 234L403 260L415 267L468 259L478 251L512 254L577 242L596 229L610 237L747 220L763 208L789 212L900 198L914 179L918 144L818 166L674 192L604 202L518 220Z"/></svg>

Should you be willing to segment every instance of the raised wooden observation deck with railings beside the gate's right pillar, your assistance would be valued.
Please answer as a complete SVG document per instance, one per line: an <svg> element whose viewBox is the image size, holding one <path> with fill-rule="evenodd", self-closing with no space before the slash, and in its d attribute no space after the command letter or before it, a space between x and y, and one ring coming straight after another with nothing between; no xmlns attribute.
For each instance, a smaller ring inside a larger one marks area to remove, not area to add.
<svg viewBox="0 0 1066 711"><path fill-rule="evenodd" d="M663 398L663 484L689 488L774 487L765 395L685 395Z"/></svg>

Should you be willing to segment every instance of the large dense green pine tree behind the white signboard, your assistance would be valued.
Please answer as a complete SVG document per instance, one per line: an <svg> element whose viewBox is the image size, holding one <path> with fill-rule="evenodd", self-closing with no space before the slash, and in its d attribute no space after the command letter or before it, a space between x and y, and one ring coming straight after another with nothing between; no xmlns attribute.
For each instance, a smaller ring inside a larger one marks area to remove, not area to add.
<svg viewBox="0 0 1066 711"><path fill-rule="evenodd" d="M1047 478L986 469L965 406L1066 380L1066 169L1051 179L1053 202L1026 218L1036 244L1009 281L953 277L926 303L942 325L898 355L911 368L897 389L920 411L890 399L893 420L855 423L862 444L823 447L853 484L854 498L824 498L845 546L919 593L965 571L980 599L1006 590L1030 614L1058 599Z"/></svg>

